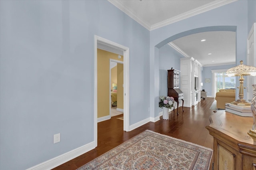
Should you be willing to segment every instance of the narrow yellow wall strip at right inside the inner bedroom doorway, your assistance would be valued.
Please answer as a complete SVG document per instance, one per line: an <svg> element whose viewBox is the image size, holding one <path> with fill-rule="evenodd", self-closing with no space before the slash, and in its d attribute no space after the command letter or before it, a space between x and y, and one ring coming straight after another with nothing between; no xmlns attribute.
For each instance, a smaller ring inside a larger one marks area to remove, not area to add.
<svg viewBox="0 0 256 170"><path fill-rule="evenodd" d="M124 65L117 63L117 108L124 109Z"/></svg>

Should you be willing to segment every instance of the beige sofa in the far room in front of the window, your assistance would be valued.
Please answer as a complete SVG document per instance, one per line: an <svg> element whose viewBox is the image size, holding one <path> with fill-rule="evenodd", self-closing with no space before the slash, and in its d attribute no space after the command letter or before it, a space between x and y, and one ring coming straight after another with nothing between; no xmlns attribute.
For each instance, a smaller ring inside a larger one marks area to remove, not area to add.
<svg viewBox="0 0 256 170"><path fill-rule="evenodd" d="M220 89L216 93L215 100L217 101L218 109L225 109L225 103L231 103L236 100L236 89Z"/></svg>

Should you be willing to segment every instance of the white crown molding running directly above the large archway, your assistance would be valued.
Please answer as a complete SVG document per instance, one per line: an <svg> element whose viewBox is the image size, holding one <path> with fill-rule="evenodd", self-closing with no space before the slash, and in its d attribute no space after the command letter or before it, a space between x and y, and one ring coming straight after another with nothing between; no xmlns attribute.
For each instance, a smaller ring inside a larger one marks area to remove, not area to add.
<svg viewBox="0 0 256 170"><path fill-rule="evenodd" d="M173 18L169 18L167 20L164 20L162 22L154 24L154 25L152 25L150 27L150 31L155 30L157 28L161 28L163 26L167 26L167 25L172 24L174 22L178 22L180 20L184 20L186 18L195 16L197 14L201 14L203 12L206 12L206 11L209 11L209 10L213 10L214 8L218 8L220 6L224 6L226 4L230 4L230 3L235 2L235 1L238 1L238 0L215 0L215 1L211 2L211 3L209 3L209 4L200 6L198 8L193 9L193 10L190 10L188 12L184 12L183 14L177 15L177 16L175 16Z"/></svg>

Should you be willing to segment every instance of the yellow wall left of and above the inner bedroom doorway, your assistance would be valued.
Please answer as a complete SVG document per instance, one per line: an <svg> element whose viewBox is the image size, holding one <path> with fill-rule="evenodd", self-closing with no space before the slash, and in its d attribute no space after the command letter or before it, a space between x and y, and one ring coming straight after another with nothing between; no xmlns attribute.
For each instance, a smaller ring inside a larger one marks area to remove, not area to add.
<svg viewBox="0 0 256 170"><path fill-rule="evenodd" d="M110 59L123 61L123 56L119 59L118 54L97 49L97 103L98 115L97 117L105 117L110 115L110 83L109 83L109 65Z"/></svg>

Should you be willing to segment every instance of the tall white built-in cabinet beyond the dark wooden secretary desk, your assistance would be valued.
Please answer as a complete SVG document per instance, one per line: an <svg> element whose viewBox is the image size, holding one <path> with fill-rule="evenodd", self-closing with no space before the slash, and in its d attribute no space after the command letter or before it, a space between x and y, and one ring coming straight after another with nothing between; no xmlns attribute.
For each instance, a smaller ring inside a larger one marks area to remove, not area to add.
<svg viewBox="0 0 256 170"><path fill-rule="evenodd" d="M184 93L184 107L192 107L201 99L202 65L193 57L180 58L180 89Z"/></svg>

